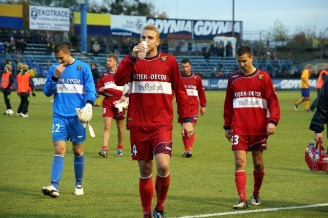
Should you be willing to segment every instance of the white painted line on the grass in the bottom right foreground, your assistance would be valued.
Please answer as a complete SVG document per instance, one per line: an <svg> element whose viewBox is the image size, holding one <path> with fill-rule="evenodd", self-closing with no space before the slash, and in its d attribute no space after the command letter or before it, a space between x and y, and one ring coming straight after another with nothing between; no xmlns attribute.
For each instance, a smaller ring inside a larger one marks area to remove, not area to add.
<svg viewBox="0 0 328 218"><path fill-rule="evenodd" d="M291 210L291 209L301 209L301 208L309 208L309 207L323 207L323 206L328 206L328 203L310 204L310 205L304 205L304 206L291 206L291 207L275 207L275 208L267 208L267 209L259 209L259 210L237 210L237 211L233 211L233 212L200 214L200 215L193 215L193 216L180 216L178 218L198 218L198 217L210 217L210 216L224 216L224 215L231 215L231 214L256 213L256 212L266 212L266 211L276 211L276 210Z"/></svg>

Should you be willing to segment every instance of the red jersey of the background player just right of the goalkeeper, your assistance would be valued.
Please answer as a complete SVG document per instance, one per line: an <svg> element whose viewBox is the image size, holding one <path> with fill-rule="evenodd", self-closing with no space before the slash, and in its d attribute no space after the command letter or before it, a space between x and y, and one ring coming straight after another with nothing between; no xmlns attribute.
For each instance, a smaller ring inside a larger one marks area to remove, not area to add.
<svg viewBox="0 0 328 218"><path fill-rule="evenodd" d="M120 99L123 95L124 86L117 86L114 83L114 74L112 74L109 70L104 72L104 74L99 77L96 89L97 93L104 95L105 98ZM98 91L101 87L105 87L103 92Z"/></svg>

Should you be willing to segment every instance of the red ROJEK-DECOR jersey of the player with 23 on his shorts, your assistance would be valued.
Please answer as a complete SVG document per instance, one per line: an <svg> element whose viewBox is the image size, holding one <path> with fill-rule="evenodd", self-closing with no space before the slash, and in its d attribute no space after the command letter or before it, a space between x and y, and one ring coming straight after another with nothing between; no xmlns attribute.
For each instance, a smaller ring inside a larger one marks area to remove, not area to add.
<svg viewBox="0 0 328 218"><path fill-rule="evenodd" d="M280 108L269 74L256 69L244 75L237 71L229 77L224 101L224 129L234 135L266 135L269 122L278 124Z"/></svg>

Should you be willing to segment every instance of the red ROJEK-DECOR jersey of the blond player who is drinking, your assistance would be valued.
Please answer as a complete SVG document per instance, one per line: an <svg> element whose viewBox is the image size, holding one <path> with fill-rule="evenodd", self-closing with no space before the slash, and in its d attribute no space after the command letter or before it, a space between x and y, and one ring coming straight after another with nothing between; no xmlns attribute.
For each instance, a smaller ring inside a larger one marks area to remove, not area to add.
<svg viewBox="0 0 328 218"><path fill-rule="evenodd" d="M176 59L166 53L153 58L122 59L114 75L116 85L130 82L127 127L170 125L173 120L172 90L175 92L178 114L190 117L188 95L181 81Z"/></svg>

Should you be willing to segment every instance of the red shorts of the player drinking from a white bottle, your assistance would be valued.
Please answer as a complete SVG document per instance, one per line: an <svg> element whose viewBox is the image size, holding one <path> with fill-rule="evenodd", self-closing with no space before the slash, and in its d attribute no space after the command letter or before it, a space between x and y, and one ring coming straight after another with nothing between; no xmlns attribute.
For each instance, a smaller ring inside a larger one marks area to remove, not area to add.
<svg viewBox="0 0 328 218"><path fill-rule="evenodd" d="M152 160L156 154L172 154L172 126L130 126L132 160Z"/></svg>

